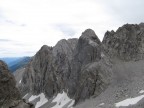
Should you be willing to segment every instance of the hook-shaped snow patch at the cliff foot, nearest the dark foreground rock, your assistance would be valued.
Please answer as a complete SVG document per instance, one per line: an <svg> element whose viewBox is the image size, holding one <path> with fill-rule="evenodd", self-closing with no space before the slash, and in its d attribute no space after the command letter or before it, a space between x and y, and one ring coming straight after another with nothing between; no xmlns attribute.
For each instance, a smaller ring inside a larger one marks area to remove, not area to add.
<svg viewBox="0 0 144 108"><path fill-rule="evenodd" d="M35 108L39 108L39 107L41 107L42 105L44 105L45 103L48 102L48 99L45 97L44 93L41 93L39 95L32 95L29 98L29 102L35 100L36 98L40 98L40 101L38 101L36 103Z"/></svg>

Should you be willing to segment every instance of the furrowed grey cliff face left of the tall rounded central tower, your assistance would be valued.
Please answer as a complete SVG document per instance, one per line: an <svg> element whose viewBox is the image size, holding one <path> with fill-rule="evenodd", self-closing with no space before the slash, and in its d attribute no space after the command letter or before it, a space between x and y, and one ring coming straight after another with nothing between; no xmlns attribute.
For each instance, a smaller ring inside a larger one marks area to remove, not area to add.
<svg viewBox="0 0 144 108"><path fill-rule="evenodd" d="M44 45L26 68L21 90L33 94L44 92L48 97L63 90L76 43L77 39L63 39L53 48Z"/></svg>

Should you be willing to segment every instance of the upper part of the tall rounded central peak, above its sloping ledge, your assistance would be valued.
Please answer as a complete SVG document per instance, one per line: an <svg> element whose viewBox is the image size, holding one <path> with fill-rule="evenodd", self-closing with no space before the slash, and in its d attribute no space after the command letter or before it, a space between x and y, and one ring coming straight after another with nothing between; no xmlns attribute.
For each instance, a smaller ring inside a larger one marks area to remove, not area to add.
<svg viewBox="0 0 144 108"><path fill-rule="evenodd" d="M101 42L91 29L85 30L78 40L74 52L75 59L87 64L101 59Z"/></svg>

